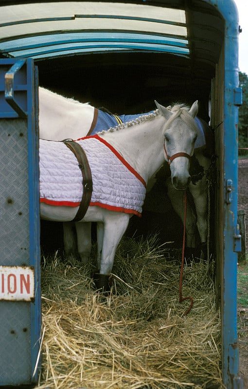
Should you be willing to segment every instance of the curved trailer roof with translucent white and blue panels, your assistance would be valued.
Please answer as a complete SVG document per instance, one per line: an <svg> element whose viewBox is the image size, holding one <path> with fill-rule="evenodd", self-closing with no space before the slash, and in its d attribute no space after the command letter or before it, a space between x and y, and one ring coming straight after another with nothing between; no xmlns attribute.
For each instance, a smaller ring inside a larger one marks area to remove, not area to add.
<svg viewBox="0 0 248 389"><path fill-rule="evenodd" d="M162 52L217 62L224 20L203 1L2 1L0 55L36 60L96 52Z"/></svg>

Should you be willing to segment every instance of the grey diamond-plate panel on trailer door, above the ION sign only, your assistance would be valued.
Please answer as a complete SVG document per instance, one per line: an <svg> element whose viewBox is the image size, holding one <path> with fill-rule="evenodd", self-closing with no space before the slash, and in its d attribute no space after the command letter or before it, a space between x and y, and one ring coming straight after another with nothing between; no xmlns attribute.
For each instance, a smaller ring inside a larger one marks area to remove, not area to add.
<svg viewBox="0 0 248 389"><path fill-rule="evenodd" d="M30 265L27 121L0 121L1 265Z"/></svg>

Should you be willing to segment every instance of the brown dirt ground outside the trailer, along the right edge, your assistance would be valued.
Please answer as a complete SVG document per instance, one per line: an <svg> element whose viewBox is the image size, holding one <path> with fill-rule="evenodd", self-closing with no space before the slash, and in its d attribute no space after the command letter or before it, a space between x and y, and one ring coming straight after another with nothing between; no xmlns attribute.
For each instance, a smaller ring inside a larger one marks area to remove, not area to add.
<svg viewBox="0 0 248 389"><path fill-rule="evenodd" d="M248 158L239 159L238 165L238 210L246 211L246 231L248 231ZM248 252L248 232L246 232L246 251ZM247 285L248 293L248 285ZM238 307L238 315L248 320L248 308ZM246 334L248 333L246 327ZM248 337L239 334L239 367L243 379L243 389L248 389Z"/></svg>

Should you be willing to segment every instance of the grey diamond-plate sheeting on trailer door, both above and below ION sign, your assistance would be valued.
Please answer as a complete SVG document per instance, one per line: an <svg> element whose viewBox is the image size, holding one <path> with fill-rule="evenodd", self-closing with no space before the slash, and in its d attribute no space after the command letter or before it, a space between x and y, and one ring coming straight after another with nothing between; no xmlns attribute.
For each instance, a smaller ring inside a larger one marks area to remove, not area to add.
<svg viewBox="0 0 248 389"><path fill-rule="evenodd" d="M30 265L27 120L1 119L0 134L0 263ZM0 383L30 381L30 318L29 303L0 301Z"/></svg>

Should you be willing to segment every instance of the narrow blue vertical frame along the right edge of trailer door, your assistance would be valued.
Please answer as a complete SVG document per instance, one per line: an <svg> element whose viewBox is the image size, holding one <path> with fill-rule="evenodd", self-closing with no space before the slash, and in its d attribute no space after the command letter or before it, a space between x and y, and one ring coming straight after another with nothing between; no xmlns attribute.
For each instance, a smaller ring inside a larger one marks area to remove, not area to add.
<svg viewBox="0 0 248 389"><path fill-rule="evenodd" d="M35 301L31 303L31 377L38 382L40 374L41 285L40 285L40 217L39 217L39 143L38 143L38 70L28 58L28 177L29 177L29 236L30 265L35 269ZM35 102L35 104L34 104Z"/></svg>

